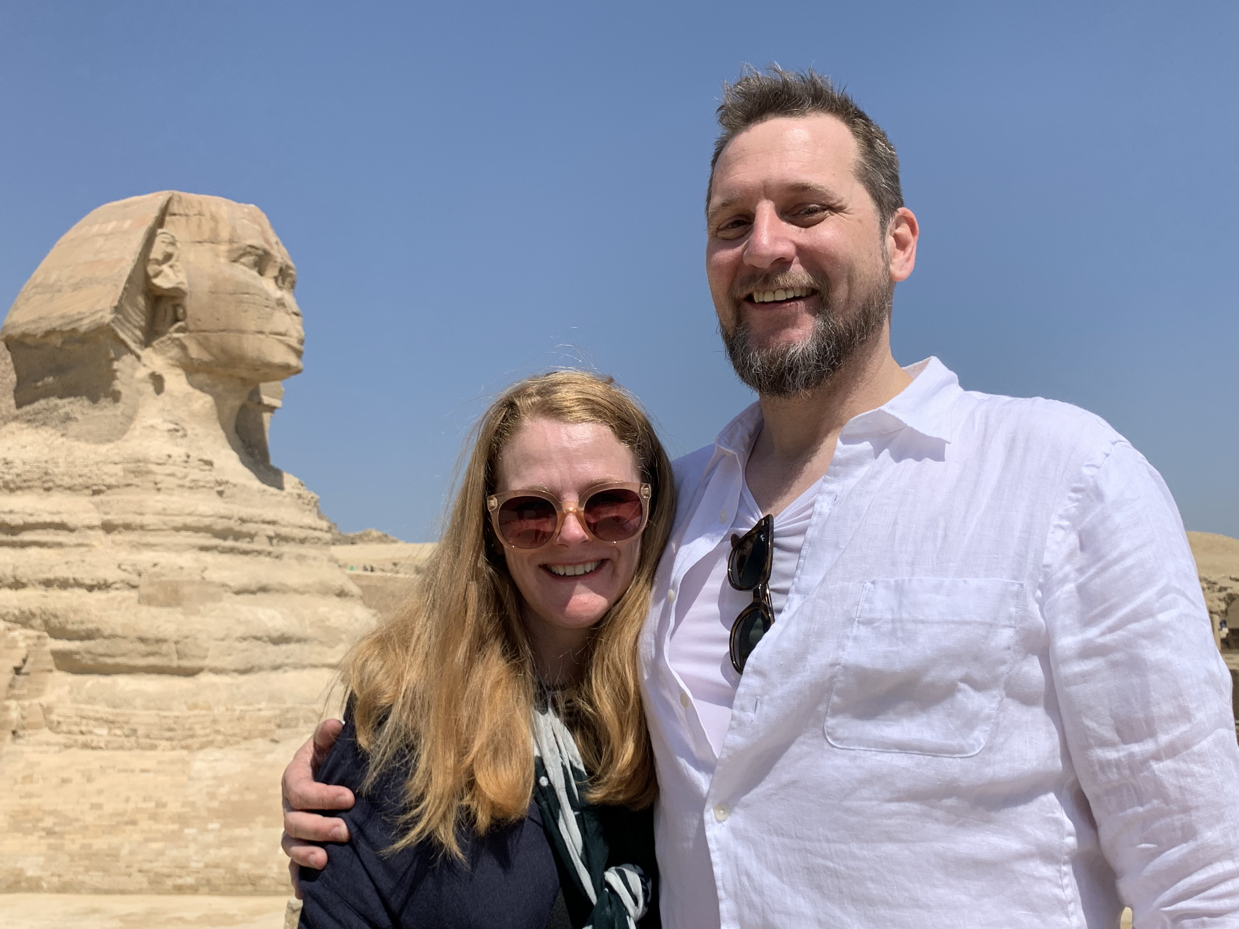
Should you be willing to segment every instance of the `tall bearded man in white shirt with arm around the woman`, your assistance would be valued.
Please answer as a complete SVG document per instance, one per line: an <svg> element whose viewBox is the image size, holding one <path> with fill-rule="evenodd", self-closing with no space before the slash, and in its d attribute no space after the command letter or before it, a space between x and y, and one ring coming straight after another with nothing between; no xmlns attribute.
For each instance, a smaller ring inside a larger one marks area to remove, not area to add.
<svg viewBox="0 0 1239 929"><path fill-rule="evenodd" d="M1161 478L895 362L918 225L846 95L746 73L719 121L706 271L760 400L676 463L641 644L664 924L1235 924L1229 678ZM310 753L286 795L336 809Z"/></svg>

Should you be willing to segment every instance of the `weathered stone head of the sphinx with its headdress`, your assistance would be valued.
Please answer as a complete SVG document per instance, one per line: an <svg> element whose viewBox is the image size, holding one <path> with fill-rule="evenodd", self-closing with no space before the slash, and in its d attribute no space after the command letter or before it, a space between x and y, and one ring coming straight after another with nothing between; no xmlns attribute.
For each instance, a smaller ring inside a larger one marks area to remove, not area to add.
<svg viewBox="0 0 1239 929"><path fill-rule="evenodd" d="M108 203L64 237L14 302L0 338L16 406L116 399L154 351L249 390L301 370L296 271L258 207L164 192Z"/></svg>

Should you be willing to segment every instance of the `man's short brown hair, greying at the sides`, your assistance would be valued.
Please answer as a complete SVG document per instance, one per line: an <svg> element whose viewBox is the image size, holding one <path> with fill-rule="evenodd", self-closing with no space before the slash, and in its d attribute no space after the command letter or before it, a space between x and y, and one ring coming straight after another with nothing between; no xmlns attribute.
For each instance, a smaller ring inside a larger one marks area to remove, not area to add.
<svg viewBox="0 0 1239 929"><path fill-rule="evenodd" d="M809 116L823 113L840 120L851 131L860 149L856 162L859 180L877 207L882 228L903 206L903 188L900 185L900 156L886 137L886 133L866 115L865 110L843 90L836 90L830 78L813 68L784 71L772 64L764 73L745 66L735 83L722 85L722 103L719 104L719 125L722 133L714 144L710 160L710 185L706 201L714 188L714 168L727 142L746 129L776 116Z"/></svg>

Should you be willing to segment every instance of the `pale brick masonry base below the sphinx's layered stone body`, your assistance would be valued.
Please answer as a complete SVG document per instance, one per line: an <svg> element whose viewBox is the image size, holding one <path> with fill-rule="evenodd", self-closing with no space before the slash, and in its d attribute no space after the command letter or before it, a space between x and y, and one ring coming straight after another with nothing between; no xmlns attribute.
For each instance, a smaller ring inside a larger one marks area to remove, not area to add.
<svg viewBox="0 0 1239 929"><path fill-rule="evenodd" d="M302 741L196 752L5 746L0 891L284 894L280 773Z"/></svg>

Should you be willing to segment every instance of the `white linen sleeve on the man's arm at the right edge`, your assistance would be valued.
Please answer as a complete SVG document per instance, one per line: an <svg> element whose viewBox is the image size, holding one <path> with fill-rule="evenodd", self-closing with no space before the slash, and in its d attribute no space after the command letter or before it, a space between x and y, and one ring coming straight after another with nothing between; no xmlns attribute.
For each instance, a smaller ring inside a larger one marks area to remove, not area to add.
<svg viewBox="0 0 1239 929"><path fill-rule="evenodd" d="M1234 925L1230 675L1173 498L1127 442L1067 494L1040 595L1070 761L1136 929Z"/></svg>

